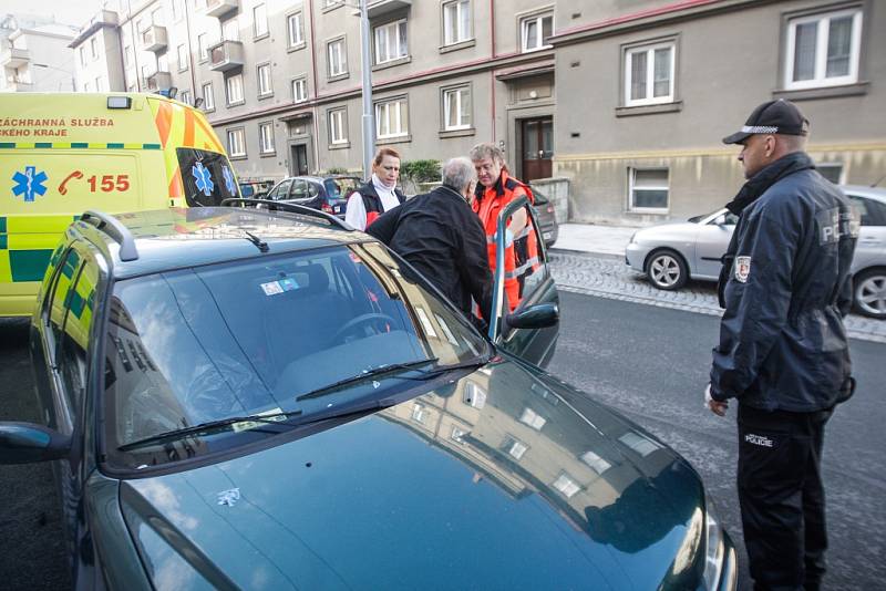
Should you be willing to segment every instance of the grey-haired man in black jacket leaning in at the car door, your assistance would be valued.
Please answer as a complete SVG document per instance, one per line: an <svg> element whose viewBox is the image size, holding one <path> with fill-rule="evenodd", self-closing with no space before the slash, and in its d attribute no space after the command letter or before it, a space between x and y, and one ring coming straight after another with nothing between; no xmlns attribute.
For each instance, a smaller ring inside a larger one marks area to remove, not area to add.
<svg viewBox="0 0 886 591"><path fill-rule="evenodd" d="M472 298L488 319L492 272L486 237L467 205L474 190L467 158L443 165L443 185L387 211L367 228L403 257L470 317Z"/></svg>

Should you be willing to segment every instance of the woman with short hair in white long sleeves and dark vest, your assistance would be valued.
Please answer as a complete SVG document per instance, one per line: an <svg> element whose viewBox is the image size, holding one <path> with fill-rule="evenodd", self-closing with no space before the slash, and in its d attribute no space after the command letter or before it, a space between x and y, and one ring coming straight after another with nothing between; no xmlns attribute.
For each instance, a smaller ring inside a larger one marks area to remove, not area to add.
<svg viewBox="0 0 886 591"><path fill-rule="evenodd" d="M396 188L400 177L400 153L393 148L379 148L372 159L372 178L348 198L344 221L358 230L365 230L375 219L406 200Z"/></svg>

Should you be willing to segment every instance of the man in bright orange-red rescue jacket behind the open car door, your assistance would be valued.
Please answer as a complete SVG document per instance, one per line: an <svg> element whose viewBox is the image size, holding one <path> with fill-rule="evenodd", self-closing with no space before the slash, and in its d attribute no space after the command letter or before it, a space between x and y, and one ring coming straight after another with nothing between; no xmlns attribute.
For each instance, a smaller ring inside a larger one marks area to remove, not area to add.
<svg viewBox="0 0 886 591"><path fill-rule="evenodd" d="M521 195L525 195L532 203L533 191L508 174L504 154L495 144L474 146L471 149L471 160L474 163L477 180L480 180L471 207L483 225L490 268L495 270L495 235L498 227L498 214ZM527 231L530 230L527 226L526 209L519 209L508 221L505 234L505 293L512 311L519 303L525 274L527 271L532 271L538 262L535 232Z"/></svg>

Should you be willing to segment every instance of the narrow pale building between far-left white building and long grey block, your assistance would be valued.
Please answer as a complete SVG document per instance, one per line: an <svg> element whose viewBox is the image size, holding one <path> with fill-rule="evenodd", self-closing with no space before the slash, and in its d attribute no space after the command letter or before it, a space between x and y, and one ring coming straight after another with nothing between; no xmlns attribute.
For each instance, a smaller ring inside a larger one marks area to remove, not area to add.
<svg viewBox="0 0 886 591"><path fill-rule="evenodd" d="M100 10L68 45L74 50L74 80L79 92L125 90L120 19Z"/></svg>

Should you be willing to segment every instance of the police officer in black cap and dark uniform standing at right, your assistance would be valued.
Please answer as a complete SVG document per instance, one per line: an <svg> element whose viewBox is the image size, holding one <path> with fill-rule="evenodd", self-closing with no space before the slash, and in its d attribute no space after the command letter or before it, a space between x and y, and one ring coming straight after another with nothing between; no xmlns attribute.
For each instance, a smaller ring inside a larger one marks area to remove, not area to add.
<svg viewBox="0 0 886 591"><path fill-rule="evenodd" d="M708 407L739 403L738 488L754 588L818 589L827 547L824 426L852 394L843 318L857 222L804 152L808 121L792 103L758 106L741 144L748 182L720 276L725 311Z"/></svg>

